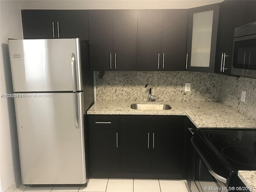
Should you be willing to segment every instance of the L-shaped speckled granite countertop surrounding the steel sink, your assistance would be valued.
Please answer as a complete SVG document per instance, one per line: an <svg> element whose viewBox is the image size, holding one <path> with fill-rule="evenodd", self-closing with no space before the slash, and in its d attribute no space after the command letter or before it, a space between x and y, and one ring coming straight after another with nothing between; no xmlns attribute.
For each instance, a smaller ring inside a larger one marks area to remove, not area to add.
<svg viewBox="0 0 256 192"><path fill-rule="evenodd" d="M256 121L219 102L156 102L170 110L135 110L130 105L144 102L97 101L87 114L186 115L197 128L256 128Z"/></svg>

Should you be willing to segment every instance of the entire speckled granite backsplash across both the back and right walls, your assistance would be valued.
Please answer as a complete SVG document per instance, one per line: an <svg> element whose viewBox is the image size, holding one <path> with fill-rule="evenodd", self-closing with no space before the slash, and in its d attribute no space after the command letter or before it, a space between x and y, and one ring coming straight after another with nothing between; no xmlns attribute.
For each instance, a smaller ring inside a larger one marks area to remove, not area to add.
<svg viewBox="0 0 256 192"><path fill-rule="evenodd" d="M191 91L185 92L185 83ZM214 73L167 72L96 72L97 100L146 101L149 83L156 101L217 101L256 120L256 79L235 78ZM246 91L245 102L241 101Z"/></svg>

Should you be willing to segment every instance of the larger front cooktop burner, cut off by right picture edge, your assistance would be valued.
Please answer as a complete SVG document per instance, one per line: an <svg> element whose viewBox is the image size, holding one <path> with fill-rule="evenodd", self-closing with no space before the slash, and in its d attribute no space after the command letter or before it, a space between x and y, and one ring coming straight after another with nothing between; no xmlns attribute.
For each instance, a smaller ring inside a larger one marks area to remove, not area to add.
<svg viewBox="0 0 256 192"><path fill-rule="evenodd" d="M256 166L256 150L243 146L227 146L222 149L226 158L249 166Z"/></svg>

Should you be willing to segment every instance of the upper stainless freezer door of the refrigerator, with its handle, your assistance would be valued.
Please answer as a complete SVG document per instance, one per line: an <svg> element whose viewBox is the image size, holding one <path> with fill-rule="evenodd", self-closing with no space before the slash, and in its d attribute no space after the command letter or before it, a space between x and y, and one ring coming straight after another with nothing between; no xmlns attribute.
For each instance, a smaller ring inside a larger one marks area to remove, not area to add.
<svg viewBox="0 0 256 192"><path fill-rule="evenodd" d="M79 39L8 40L14 92L80 91Z"/></svg>

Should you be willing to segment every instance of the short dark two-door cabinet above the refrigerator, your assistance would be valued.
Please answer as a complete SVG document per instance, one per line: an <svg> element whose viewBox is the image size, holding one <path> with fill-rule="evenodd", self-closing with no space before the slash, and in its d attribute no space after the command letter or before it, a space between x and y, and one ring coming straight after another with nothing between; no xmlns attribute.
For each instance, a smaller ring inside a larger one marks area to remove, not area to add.
<svg viewBox="0 0 256 192"><path fill-rule="evenodd" d="M88 10L21 10L24 39L88 40Z"/></svg>

